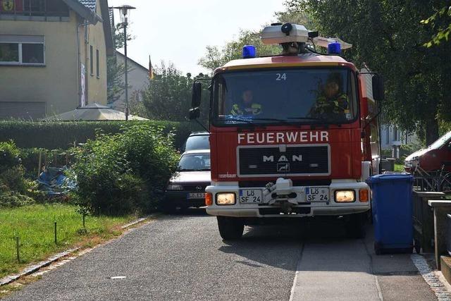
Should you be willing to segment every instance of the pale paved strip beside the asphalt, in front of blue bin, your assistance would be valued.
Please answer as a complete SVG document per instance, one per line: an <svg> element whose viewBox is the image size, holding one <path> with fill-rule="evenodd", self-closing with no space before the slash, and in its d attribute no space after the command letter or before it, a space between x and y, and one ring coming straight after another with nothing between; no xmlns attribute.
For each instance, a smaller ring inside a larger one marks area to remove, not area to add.
<svg viewBox="0 0 451 301"><path fill-rule="evenodd" d="M365 240L311 240L298 263L292 300L437 300L410 254L376 255Z"/></svg>

